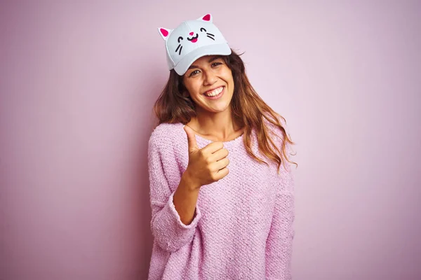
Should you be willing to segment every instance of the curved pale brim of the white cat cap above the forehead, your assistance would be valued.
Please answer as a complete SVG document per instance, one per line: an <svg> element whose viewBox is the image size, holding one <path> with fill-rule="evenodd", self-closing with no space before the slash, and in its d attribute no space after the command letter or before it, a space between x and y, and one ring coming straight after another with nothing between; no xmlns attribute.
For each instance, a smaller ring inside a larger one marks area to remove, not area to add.
<svg viewBox="0 0 421 280"><path fill-rule="evenodd" d="M184 75L187 69L189 69L189 66L192 65L196 59L204 57L205 55L231 55L231 48L229 48L227 43L203 45L203 47L197 48L185 55L185 57L175 65L175 72L180 76Z"/></svg>

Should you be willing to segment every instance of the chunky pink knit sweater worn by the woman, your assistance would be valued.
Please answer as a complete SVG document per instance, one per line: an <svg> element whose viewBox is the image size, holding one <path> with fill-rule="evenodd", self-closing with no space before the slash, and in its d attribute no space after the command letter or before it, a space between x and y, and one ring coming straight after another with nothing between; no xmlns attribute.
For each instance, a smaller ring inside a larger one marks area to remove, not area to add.
<svg viewBox="0 0 421 280"><path fill-rule="evenodd" d="M290 165L287 169L281 165L278 175L276 164L269 162L268 167L248 155L243 135L224 142L229 174L201 187L194 220L184 225L173 204L189 160L183 127L182 123L161 124L149 139L154 235L149 280L291 279L294 196ZM281 135L274 127L269 131ZM252 137L252 150L262 158L255 131ZM211 143L199 135L196 141L199 148Z"/></svg>

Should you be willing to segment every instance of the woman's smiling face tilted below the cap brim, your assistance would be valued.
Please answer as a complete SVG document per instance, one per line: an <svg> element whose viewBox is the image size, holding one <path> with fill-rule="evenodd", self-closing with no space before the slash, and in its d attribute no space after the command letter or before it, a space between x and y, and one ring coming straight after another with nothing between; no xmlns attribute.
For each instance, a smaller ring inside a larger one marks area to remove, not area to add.
<svg viewBox="0 0 421 280"><path fill-rule="evenodd" d="M196 59L182 79L196 104L196 113L220 113L231 109L234 79L221 56L206 55Z"/></svg>

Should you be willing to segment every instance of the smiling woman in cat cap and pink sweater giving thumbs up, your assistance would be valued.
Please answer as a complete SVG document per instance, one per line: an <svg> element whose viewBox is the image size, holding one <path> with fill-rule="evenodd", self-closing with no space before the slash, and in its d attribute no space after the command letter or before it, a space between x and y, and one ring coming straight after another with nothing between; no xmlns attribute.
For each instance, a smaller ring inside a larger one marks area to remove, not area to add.
<svg viewBox="0 0 421 280"><path fill-rule="evenodd" d="M149 279L290 279L292 141L211 15L159 28L170 77L149 139Z"/></svg>

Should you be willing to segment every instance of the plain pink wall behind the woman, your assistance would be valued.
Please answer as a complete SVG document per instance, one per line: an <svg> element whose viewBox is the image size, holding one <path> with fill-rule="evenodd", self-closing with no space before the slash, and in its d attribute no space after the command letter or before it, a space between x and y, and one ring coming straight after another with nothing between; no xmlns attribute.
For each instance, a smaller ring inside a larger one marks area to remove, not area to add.
<svg viewBox="0 0 421 280"><path fill-rule="evenodd" d="M206 13L297 143L294 279L421 279L419 1L26 2L0 4L1 280L146 279L156 27Z"/></svg>

